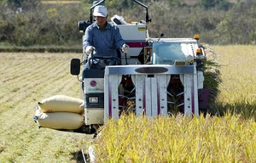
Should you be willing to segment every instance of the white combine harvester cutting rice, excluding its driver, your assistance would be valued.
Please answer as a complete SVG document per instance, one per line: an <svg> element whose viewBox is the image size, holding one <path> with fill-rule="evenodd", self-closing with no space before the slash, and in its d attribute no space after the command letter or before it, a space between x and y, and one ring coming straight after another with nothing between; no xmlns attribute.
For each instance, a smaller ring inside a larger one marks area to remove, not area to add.
<svg viewBox="0 0 256 163"><path fill-rule="evenodd" d="M118 25L125 43L130 46L129 53L111 58L120 60L121 65L107 65L105 70L83 70L84 79L79 77L81 65L88 61L84 52L82 60L71 60L71 74L78 76L82 86L84 104L79 101L76 107L82 107L77 114L83 116L83 122L77 122L75 129L65 126L55 129L93 133L108 119L119 119L122 114L153 116L183 112L184 115L199 115L200 110L207 110L209 90L204 88L203 72L198 70L206 56L199 36L148 37L147 25L151 22L148 6L137 0L133 2L145 8L144 21L130 24L115 15L109 22ZM79 31L84 32L93 22L92 10L100 3L104 0L90 7L90 20L79 21ZM39 126L42 125L39 123Z"/></svg>

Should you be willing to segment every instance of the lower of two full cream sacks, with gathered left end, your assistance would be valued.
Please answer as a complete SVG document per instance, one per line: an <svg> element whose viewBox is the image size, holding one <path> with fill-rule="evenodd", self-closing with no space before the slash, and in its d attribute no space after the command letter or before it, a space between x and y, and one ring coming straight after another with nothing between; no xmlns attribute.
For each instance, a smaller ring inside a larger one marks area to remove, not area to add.
<svg viewBox="0 0 256 163"><path fill-rule="evenodd" d="M44 113L36 110L34 120L38 126L52 129L75 130L84 126L83 116L70 112Z"/></svg>

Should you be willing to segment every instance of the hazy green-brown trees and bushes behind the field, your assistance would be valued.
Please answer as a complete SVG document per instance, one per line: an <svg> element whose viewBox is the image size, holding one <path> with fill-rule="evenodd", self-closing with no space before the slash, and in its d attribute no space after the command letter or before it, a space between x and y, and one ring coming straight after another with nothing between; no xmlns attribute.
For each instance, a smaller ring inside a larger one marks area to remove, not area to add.
<svg viewBox="0 0 256 163"><path fill-rule="evenodd" d="M210 44L256 44L256 0L140 0L148 6L150 37L201 36ZM79 20L89 20L92 0L45 4L33 0L0 2L0 45L82 45ZM146 9L131 0L108 0L108 20L118 14L126 22L145 20Z"/></svg>

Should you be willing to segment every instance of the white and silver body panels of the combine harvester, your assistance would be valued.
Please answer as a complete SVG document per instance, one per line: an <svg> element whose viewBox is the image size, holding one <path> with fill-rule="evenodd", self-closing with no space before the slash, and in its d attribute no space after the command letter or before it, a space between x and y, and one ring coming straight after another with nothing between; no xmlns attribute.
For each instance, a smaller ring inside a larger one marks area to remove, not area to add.
<svg viewBox="0 0 256 163"><path fill-rule="evenodd" d="M122 65L106 66L104 78L84 78L84 96L89 90L104 93L102 108L84 108L85 124L102 124L109 118L119 118L124 107L120 105L120 97L125 97L125 86L121 83L124 76L131 77L131 91L134 92L131 98L135 102L132 107L136 115L170 114L168 105L175 104L167 89L172 87L172 75L178 76L183 85L183 90L177 93L183 100L177 107L183 107L184 115L199 115L198 89L203 88L204 77L196 69L198 41L193 38L146 38L146 25L139 23L119 25L119 30L130 51L121 55ZM144 63L137 59L142 52ZM204 53L200 57L202 55Z"/></svg>

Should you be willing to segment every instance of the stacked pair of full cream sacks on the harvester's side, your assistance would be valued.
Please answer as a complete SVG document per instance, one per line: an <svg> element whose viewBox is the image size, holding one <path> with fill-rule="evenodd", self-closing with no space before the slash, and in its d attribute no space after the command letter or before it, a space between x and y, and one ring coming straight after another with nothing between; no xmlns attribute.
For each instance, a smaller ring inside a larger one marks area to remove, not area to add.
<svg viewBox="0 0 256 163"><path fill-rule="evenodd" d="M38 102L33 119L39 127L75 130L84 126L84 100L55 95Z"/></svg>

